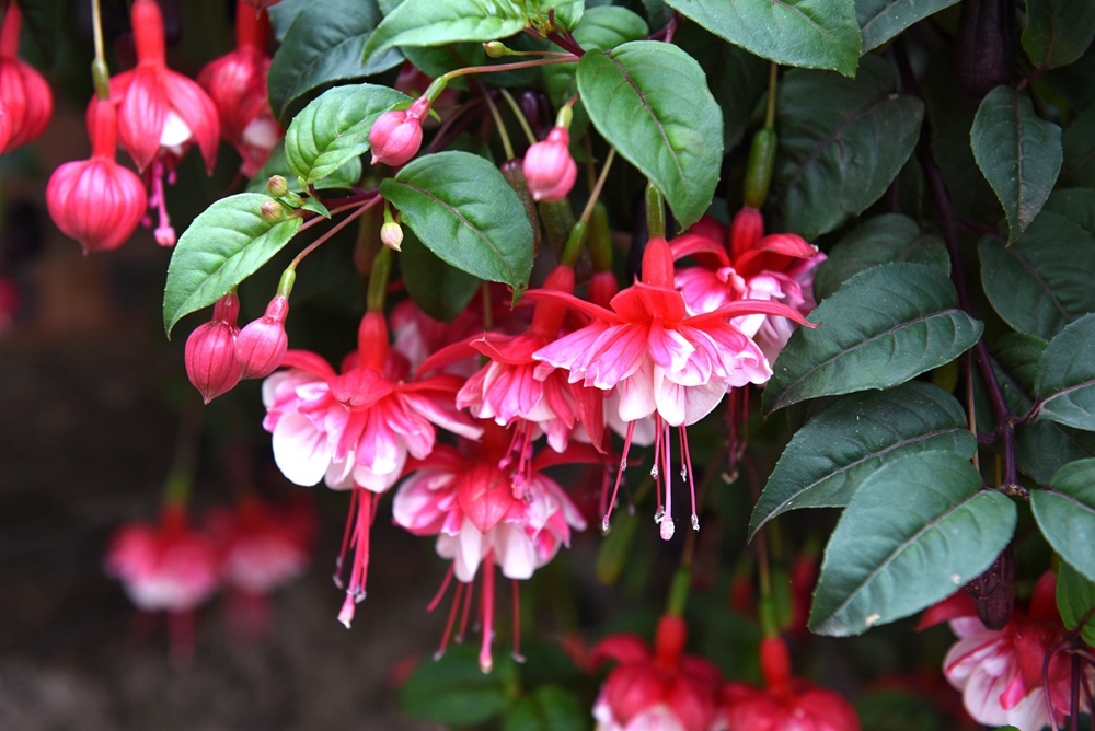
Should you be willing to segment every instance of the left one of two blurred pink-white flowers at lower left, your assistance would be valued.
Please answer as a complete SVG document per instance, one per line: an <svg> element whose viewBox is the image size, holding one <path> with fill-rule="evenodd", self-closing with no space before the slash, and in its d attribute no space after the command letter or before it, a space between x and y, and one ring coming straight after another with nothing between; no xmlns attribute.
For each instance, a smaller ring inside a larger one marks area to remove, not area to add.
<svg viewBox="0 0 1095 731"><path fill-rule="evenodd" d="M168 613L172 651L188 658L193 612L217 591L220 558L216 543L187 525L186 508L168 503L157 525L123 525L111 539L104 568L138 610Z"/></svg>

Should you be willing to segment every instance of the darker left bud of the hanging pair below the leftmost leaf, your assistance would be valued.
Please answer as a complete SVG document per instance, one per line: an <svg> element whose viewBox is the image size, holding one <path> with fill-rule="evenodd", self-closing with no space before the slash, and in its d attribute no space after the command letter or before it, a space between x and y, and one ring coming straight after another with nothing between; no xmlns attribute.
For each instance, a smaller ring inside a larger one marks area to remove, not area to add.
<svg viewBox="0 0 1095 731"><path fill-rule="evenodd" d="M240 362L235 358L239 314L240 300L235 294L226 294L214 305L212 320L186 338L186 375L207 404L240 382Z"/></svg>

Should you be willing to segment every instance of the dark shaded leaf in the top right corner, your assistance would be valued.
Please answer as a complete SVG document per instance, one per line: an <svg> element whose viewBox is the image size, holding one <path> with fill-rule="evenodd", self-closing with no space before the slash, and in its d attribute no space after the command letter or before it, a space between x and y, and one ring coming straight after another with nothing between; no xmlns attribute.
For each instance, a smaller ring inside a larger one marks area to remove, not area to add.
<svg viewBox="0 0 1095 731"><path fill-rule="evenodd" d="M1095 3L1076 0L1027 0L1023 49L1038 69L1068 66L1095 38Z"/></svg>

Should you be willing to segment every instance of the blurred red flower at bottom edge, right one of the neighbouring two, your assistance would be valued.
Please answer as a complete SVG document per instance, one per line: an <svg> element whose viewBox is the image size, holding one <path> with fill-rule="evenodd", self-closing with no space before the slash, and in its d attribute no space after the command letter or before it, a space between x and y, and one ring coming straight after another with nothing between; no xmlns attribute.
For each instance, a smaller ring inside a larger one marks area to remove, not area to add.
<svg viewBox="0 0 1095 731"><path fill-rule="evenodd" d="M761 640L764 688L727 683L722 693L724 731L860 731L860 717L842 695L792 677L787 647L777 637Z"/></svg>

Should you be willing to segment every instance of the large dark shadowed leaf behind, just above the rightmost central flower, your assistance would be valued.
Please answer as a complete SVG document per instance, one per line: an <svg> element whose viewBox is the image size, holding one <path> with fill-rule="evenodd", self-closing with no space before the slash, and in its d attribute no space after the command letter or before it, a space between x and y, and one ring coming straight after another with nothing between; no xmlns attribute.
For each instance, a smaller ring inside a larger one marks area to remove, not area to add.
<svg viewBox="0 0 1095 731"><path fill-rule="evenodd" d="M807 240L832 231L878 200L901 172L924 105L894 94L895 84L892 68L875 56L863 59L854 80L818 71L783 77L770 197L782 230Z"/></svg>

